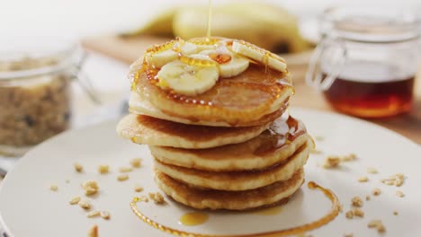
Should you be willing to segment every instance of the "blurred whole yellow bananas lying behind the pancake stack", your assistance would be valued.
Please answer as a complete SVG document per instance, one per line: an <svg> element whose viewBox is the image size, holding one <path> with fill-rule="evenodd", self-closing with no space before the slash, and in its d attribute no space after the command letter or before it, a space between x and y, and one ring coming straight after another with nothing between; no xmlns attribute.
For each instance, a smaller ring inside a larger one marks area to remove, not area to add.
<svg viewBox="0 0 421 237"><path fill-rule="evenodd" d="M147 25L123 34L181 37L189 40L206 35L208 7L172 8ZM212 8L211 34L241 39L275 53L298 53L309 49L300 36L297 19L285 9L262 3L229 3Z"/></svg>

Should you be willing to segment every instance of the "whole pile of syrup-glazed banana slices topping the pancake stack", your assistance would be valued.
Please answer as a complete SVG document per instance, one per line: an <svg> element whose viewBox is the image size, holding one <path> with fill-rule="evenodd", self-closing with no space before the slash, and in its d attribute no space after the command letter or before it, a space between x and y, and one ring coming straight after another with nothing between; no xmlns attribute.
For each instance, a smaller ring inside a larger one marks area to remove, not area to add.
<svg viewBox="0 0 421 237"><path fill-rule="evenodd" d="M228 43L229 42L229 43ZM210 90L219 77L227 78L246 71L250 60L287 72L282 57L243 40L174 40L157 51L149 51L145 60L158 68L157 86L185 95Z"/></svg>

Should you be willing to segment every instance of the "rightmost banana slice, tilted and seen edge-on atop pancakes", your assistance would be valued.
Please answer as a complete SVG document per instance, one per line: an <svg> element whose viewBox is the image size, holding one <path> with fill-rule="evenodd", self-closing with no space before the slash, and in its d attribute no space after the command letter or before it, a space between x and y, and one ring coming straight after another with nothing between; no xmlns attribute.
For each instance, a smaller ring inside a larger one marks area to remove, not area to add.
<svg viewBox="0 0 421 237"><path fill-rule="evenodd" d="M267 65L282 73L287 72L287 65L282 57L279 57L264 48L259 48L245 41L234 40L232 50L237 54L250 57L264 65Z"/></svg>

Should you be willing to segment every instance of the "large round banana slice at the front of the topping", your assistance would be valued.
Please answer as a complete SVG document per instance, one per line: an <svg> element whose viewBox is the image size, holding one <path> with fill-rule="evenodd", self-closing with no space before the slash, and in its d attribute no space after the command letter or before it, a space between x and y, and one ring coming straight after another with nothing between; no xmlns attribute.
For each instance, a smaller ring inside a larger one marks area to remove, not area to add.
<svg viewBox="0 0 421 237"><path fill-rule="evenodd" d="M189 57L210 61L203 55ZM175 60L163 66L157 77L159 79L157 85L162 89L172 89L174 92L192 96L210 90L218 81L219 71L216 64L196 66Z"/></svg>

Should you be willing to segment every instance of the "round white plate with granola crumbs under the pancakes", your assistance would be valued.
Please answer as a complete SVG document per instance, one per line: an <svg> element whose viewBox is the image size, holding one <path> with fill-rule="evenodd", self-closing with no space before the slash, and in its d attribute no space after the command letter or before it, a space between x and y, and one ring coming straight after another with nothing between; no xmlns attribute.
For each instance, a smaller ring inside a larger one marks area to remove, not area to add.
<svg viewBox="0 0 421 237"><path fill-rule="evenodd" d="M348 220L345 213L318 230L313 236L378 236L367 224L372 219L381 219L387 228L382 236L421 236L421 151L419 146L387 129L355 118L315 110L295 109L291 114L302 119L309 132L324 136L317 142L318 149L325 154L312 154L307 163L306 180L314 180L332 189L344 206L350 209L350 199L364 198L374 188L381 189L379 197L365 202L363 218ZM139 193L133 191L135 183L141 184L148 194L158 191L152 180L151 157L143 145L133 145L115 133L115 122L67 132L37 146L18 162L6 176L0 190L0 214L2 222L11 236L86 236L93 224L98 224L101 237L105 236L166 236L143 223L130 210L130 201ZM327 171L318 166L326 154L358 155L358 160L346 162L341 169ZM144 165L131 173L130 180L116 180L118 167L127 166L134 157L143 158ZM76 173L73 163L84 165L83 173ZM109 164L111 173L97 174L99 164ZM367 174L367 167L378 169L378 174ZM406 176L402 187L386 186L382 178L402 172ZM369 181L357 179L368 176ZM68 205L68 200L83 196L80 183L94 179L101 187L99 195L92 200L94 209L107 210L112 218L85 217L79 206ZM67 183L66 180L70 182ZM307 183L307 182L306 182ZM58 191L49 190L57 184ZM395 195L402 190L404 198ZM160 224L193 233L233 234L258 233L309 223L325 215L330 202L319 191L304 185L282 206L278 215L255 215L252 213L207 212L209 221L196 226L178 224L179 217L192 209L168 200L166 206L153 202L139 204L148 217ZM399 215L393 215L398 211Z"/></svg>

